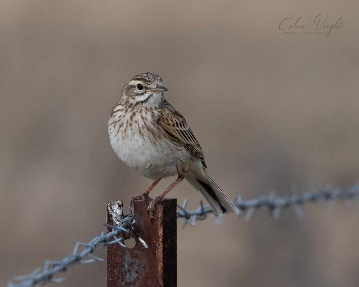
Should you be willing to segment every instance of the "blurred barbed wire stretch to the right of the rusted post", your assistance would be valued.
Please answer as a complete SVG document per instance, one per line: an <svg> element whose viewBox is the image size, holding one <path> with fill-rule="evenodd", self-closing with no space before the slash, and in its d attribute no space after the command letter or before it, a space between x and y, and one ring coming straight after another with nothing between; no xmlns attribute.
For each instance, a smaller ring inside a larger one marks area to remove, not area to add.
<svg viewBox="0 0 359 287"><path fill-rule="evenodd" d="M320 190L309 190L302 194L293 194L289 197L278 197L274 192L269 196L259 196L253 199L243 200L238 194L233 201L233 204L238 208L239 215L244 215L246 220L249 220L255 209L264 208L269 210L274 218L278 218L282 208L294 207L295 214L298 217L303 217L302 205L306 202L312 201L336 201L337 199L353 199L359 196L359 183L352 187L331 188L326 187ZM207 214L211 213L217 224L222 223L222 216L217 216L209 205L201 205L196 210L187 210L187 199L182 206L177 206L177 218L183 218L185 224L196 226L196 220L205 220Z"/></svg>

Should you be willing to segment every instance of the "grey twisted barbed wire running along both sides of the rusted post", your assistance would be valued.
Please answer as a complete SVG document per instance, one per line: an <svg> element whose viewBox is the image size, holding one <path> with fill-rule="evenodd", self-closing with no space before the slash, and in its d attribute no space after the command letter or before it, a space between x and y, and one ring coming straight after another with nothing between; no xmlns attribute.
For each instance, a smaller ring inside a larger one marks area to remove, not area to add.
<svg viewBox="0 0 359 287"><path fill-rule="evenodd" d="M353 199L359 196L359 183L353 187L348 188L331 188L316 190L311 189L303 194L293 194L289 197L278 197L276 193L272 192L269 196L259 196L254 199L242 200L240 195L237 195L233 201L233 204L238 208L239 216L245 214L246 220L249 220L255 209L264 208L272 212L274 218L280 216L282 208L293 206L295 213L298 217L303 217L303 211L301 206L305 202L313 201L335 201L338 199ZM223 223L223 215L217 216L209 205L200 206L196 210L187 210L187 199L183 202L182 206L177 205L179 211L177 211L177 218L183 218L185 225L196 226L197 220L205 220L208 214L212 214L217 224ZM115 212L116 213L116 212ZM17 283L9 282L8 287L34 287L38 284L46 284L48 282L62 282L64 278L54 278L56 273L65 272L67 268L74 264L91 263L96 260L103 261L102 258L94 256L92 253L96 250L97 246L100 246L99 250L109 244L118 243L122 247L126 248L123 243L123 232L134 232L135 219L133 214L126 215L123 219L116 213L116 217L119 220L117 226L107 225L111 227L111 232L101 236L95 237L88 243L75 242L73 253L59 261L46 260L43 268L37 268L29 275L18 276L13 279ZM113 240L111 240L113 238ZM146 243L138 237L141 243L147 248ZM85 246L84 250L78 253L79 246ZM85 259L89 257L89 259Z"/></svg>

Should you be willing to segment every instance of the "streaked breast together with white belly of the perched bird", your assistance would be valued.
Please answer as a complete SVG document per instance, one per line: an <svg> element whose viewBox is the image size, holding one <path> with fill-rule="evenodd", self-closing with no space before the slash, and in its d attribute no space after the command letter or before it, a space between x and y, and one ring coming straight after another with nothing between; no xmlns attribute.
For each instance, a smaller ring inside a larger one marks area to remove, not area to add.
<svg viewBox="0 0 359 287"><path fill-rule="evenodd" d="M177 175L177 165L190 158L190 153L158 126L155 113L113 113L108 133L117 156L145 177Z"/></svg>

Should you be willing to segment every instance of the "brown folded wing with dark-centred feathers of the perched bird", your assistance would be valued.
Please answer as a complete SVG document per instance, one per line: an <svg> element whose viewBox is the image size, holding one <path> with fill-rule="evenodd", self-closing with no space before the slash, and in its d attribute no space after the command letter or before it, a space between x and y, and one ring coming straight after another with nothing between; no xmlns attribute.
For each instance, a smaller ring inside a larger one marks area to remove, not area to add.
<svg viewBox="0 0 359 287"><path fill-rule="evenodd" d="M185 147L192 155L198 157L203 166L207 168L201 146L188 127L185 118L167 101L164 103L158 123L169 137Z"/></svg>

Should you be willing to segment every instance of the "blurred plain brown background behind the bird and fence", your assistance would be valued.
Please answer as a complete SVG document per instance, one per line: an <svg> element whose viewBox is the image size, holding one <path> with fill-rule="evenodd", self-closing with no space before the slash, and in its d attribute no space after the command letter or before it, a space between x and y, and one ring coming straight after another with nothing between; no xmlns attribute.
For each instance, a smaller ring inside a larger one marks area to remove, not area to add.
<svg viewBox="0 0 359 287"><path fill-rule="evenodd" d="M123 85L140 72L162 76L230 198L359 180L358 1L0 6L1 286L101 234L108 200L129 202L151 183L117 158L107 134ZM328 24L348 23L328 37L279 30L285 17L307 24L328 10ZM187 182L169 196L189 208L202 199ZM226 215L222 226L208 218L181 229L179 220L178 286L357 286L353 203L307 204L304 219L290 209L278 220ZM56 286L106 286L106 264L64 276Z"/></svg>

